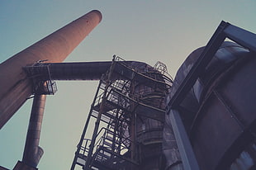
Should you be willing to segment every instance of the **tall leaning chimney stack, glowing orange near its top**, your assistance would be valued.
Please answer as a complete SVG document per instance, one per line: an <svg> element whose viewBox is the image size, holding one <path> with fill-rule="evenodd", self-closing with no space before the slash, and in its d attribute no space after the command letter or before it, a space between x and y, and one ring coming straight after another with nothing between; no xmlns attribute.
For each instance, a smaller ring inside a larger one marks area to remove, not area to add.
<svg viewBox="0 0 256 170"><path fill-rule="evenodd" d="M64 61L101 20L101 12L88 12L0 64L0 129L31 96L31 82L23 67L40 60Z"/></svg>

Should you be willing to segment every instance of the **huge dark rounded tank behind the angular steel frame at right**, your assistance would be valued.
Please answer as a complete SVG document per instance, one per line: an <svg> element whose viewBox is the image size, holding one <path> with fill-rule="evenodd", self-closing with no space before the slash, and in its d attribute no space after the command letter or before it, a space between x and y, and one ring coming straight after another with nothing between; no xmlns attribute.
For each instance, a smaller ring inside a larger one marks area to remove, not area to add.
<svg viewBox="0 0 256 170"><path fill-rule="evenodd" d="M174 91L202 50L192 52L179 68ZM254 54L224 42L179 106L201 169L255 168L255 74Z"/></svg>

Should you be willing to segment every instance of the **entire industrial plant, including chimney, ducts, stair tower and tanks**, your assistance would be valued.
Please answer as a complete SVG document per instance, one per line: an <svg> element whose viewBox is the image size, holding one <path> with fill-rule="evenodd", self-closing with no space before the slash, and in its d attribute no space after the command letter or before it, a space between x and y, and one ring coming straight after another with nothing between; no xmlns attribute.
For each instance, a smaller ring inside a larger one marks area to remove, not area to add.
<svg viewBox="0 0 256 170"><path fill-rule="evenodd" d="M58 63L101 19L89 12L0 64L7 82L0 89L0 127L34 95L23 158L14 169L37 168L45 97L55 93L55 80L99 80L72 170L256 168L255 34L221 21L174 80L160 62L152 67L114 56Z"/></svg>

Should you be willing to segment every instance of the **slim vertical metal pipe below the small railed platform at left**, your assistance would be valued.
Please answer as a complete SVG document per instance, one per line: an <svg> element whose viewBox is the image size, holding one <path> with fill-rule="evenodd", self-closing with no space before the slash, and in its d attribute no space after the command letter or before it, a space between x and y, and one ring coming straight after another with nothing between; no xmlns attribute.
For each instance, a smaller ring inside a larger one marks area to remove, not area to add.
<svg viewBox="0 0 256 170"><path fill-rule="evenodd" d="M40 130L45 111L46 95L36 95L33 100L31 118L26 134L22 163L36 168L44 151L39 146Z"/></svg>

